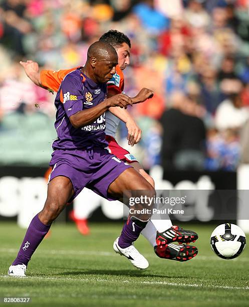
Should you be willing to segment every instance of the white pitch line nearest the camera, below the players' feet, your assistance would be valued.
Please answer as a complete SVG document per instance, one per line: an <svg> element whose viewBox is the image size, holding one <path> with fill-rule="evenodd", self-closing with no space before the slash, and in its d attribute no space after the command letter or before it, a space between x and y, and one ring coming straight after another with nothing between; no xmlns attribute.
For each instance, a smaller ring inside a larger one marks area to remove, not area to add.
<svg viewBox="0 0 249 307"><path fill-rule="evenodd" d="M178 287L193 287L193 288L214 288L214 289L232 289L232 290L249 290L248 286L236 287L236 286L222 286L222 285L205 285L202 283L182 283L182 282L167 282L167 281L134 281L134 280L120 280L120 279L104 279L104 278L71 278L71 277L45 277L45 276L27 276L27 277L13 277L8 275L0 275L0 278L25 278L25 279L44 279L44 280L70 280L70 281L87 281L87 282L108 282L108 283L135 283L135 284L163 284L168 286Z"/></svg>

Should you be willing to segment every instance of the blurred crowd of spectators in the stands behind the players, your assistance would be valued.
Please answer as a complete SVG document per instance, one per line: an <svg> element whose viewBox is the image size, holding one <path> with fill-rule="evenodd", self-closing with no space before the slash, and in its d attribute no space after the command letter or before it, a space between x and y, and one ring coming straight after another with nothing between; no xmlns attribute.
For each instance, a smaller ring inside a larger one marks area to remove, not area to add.
<svg viewBox="0 0 249 307"><path fill-rule="evenodd" d="M131 39L125 92L155 93L129 109L143 131L132 150L145 168L234 171L249 160L248 0L0 0L0 162L20 162L3 157L15 140L36 154L14 150L22 163L45 164L55 138L55 96L19 61L82 65L110 29ZM124 124L118 138L127 146Z"/></svg>

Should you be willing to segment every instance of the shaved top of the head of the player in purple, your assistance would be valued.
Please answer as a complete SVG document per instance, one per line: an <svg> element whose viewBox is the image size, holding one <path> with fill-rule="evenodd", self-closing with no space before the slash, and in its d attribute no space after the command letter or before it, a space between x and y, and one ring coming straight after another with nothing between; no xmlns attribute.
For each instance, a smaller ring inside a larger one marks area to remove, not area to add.
<svg viewBox="0 0 249 307"><path fill-rule="evenodd" d="M105 42L95 42L93 43L88 51L87 58L96 58L98 61L100 60L108 60L111 57L117 57L116 50L108 43Z"/></svg>

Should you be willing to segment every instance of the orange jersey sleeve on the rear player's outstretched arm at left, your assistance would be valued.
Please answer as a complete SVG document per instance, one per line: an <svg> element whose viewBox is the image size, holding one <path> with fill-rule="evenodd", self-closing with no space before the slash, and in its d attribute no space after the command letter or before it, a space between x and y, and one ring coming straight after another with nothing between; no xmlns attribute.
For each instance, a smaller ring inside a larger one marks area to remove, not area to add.
<svg viewBox="0 0 249 307"><path fill-rule="evenodd" d="M80 67L80 66L78 66ZM40 74L42 86L57 92L64 77L78 67L61 70L42 70Z"/></svg>

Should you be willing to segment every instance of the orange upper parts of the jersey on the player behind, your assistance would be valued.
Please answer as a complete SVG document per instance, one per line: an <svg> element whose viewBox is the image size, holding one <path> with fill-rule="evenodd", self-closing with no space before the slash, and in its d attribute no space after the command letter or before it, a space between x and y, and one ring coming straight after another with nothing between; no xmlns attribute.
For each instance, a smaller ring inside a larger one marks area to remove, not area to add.
<svg viewBox="0 0 249 307"><path fill-rule="evenodd" d="M40 74L42 86L47 89L52 89L57 92L62 80L65 76L71 71L79 68L74 67L71 69L62 69L62 70L42 70ZM115 90L117 94L122 93L124 90L124 75L119 66L116 66L116 73L113 75L112 79L107 82L108 88Z"/></svg>

